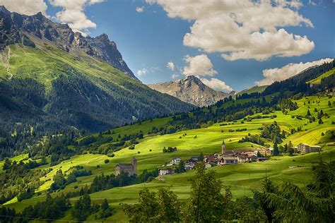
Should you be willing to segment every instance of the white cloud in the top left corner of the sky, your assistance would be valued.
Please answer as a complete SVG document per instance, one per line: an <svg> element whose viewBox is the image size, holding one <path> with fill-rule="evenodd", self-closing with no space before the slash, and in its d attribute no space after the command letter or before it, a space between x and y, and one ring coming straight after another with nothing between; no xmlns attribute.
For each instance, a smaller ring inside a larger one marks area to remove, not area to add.
<svg viewBox="0 0 335 223"><path fill-rule="evenodd" d="M0 0L0 5L5 6L9 11L24 14L24 15L35 15L38 12L42 12L43 15L47 15L47 4L43 0Z"/></svg>

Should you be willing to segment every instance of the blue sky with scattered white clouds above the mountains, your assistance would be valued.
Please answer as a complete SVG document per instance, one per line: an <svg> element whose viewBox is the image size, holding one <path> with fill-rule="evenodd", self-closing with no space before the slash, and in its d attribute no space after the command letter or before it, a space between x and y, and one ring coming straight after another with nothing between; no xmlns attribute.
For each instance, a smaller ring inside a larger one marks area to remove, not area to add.
<svg viewBox="0 0 335 223"><path fill-rule="evenodd" d="M74 31L106 33L143 83L195 75L230 92L335 58L334 0L0 0Z"/></svg>

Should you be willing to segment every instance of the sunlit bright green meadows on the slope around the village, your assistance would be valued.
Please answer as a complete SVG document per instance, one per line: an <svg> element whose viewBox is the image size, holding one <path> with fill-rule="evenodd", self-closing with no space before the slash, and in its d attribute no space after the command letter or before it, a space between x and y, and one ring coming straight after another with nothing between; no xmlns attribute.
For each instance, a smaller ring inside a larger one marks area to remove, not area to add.
<svg viewBox="0 0 335 223"><path fill-rule="evenodd" d="M308 104L310 101L310 104ZM329 161L331 156L335 152L334 140L329 138L327 131L335 131L335 125L332 124L335 121L335 108L329 107L328 102L331 104L334 102L333 98L329 97L304 97L298 100L299 109L290 111L288 114L283 114L281 111L276 111L276 118L274 119L253 119L252 121L245 121L245 123L228 122L227 125L221 126L222 123L215 123L213 126L208 128L193 129L187 131L180 131L178 133L170 135L146 135L151 130L152 126L163 126L170 118L164 119L153 119L153 121L145 121L141 124L136 123L133 126L124 126L121 128L114 129L115 133L120 134L131 134L143 131L145 137L139 140L139 144L136 145L134 150L124 148L117 152L114 152L114 157L107 157L106 155L76 155L71 159L65 160L60 164L52 167L47 176L42 178L45 183L40 186L36 191L40 192L40 195L35 195L33 198L17 202L15 199L8 202L6 206L15 207L17 211L23 210L27 205L37 203L40 200L45 199L46 190L52 183L52 176L57 169L67 171L69 168L82 165L86 169L93 171L91 176L79 177L77 182L71 183L61 192L74 191L90 184L95 176L100 174L112 174L114 173L114 167L119 162L130 162L131 157L136 157L138 160L138 173L144 169L155 169L161 167L163 164L170 162L172 157L181 157L182 159L188 159L189 157L199 155L203 152L204 155L212 154L214 152L221 152L222 140L225 140L225 144L228 150L254 150L253 143L238 143L240 138L245 137L248 133L256 134L261 131L258 129L264 124L273 123L277 121L281 129L289 132L290 128L302 127L302 131L288 135L283 143L293 142L293 145L298 143L309 143L311 145L322 146L322 152L320 153L324 161ZM304 105L305 102L305 105ZM307 109L310 107L312 115L316 115L317 111L315 108L323 110L324 114L328 114L329 118L323 118L324 123L319 124L317 121L309 123L308 119L297 119L296 115L305 116ZM247 131L229 132L230 129L247 128ZM324 133L324 135L322 135ZM186 135L185 135L186 134ZM197 135L197 138L194 136ZM180 138L181 136L181 138ZM283 145L282 143L282 145ZM101 145L104 146L104 145ZM176 152L163 153L163 147L177 147ZM140 152L140 153L138 153ZM110 159L108 164L105 164L104 160ZM311 179L311 167L313 164L319 162L319 155L317 153L311 153L307 155L295 155L289 157L283 155L280 157L274 157L267 162L255 162L250 164L235 164L225 167L213 167L216 171L218 179L223 181L225 186L230 186L234 198L241 197L243 195L252 195L251 188L259 188L261 180L264 176L270 176L276 183L283 181L291 181L298 184L299 186L305 186ZM100 165L100 168L97 168ZM301 166L301 167L297 167ZM39 168L48 168L48 165ZM172 191L175 191L180 199L187 199L189 194L189 181L192 178L193 171L188 171L185 174L175 174L172 176L165 176L163 179L155 179L150 183L141 183L132 186L125 186L122 188L112 188L107 191L99 191L97 193L90 194L93 203L101 203L104 198L107 198L110 205L117 207L119 203L134 203L138 196L141 188L152 188L156 190L160 187L170 187ZM48 181L47 181L48 180ZM74 187L78 186L78 189ZM56 192L53 193L56 195ZM71 198L71 202L78 198ZM66 215L64 219L71 219L71 215ZM88 220L93 220L91 216ZM112 216L110 220L127 220L122 212L118 211L116 215Z"/></svg>

